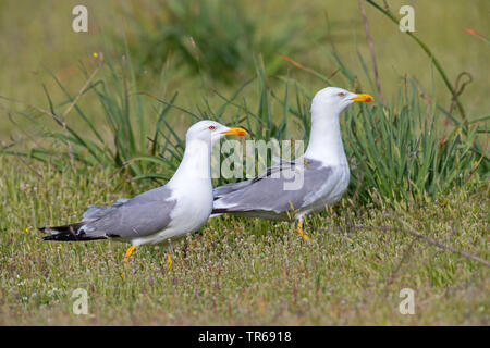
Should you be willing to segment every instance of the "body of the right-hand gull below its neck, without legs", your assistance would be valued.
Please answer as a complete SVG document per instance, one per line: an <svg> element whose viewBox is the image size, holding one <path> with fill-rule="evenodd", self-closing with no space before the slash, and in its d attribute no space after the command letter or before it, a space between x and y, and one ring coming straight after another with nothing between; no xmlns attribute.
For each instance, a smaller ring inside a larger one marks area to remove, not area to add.
<svg viewBox="0 0 490 348"><path fill-rule="evenodd" d="M348 167L324 166L315 160L306 160L304 164L303 159L299 161L281 163L252 179L217 187L212 214L293 219L294 214L317 211L333 203L345 191ZM292 185L294 172L303 174L303 185L298 187ZM291 189L286 189L287 186Z"/></svg>

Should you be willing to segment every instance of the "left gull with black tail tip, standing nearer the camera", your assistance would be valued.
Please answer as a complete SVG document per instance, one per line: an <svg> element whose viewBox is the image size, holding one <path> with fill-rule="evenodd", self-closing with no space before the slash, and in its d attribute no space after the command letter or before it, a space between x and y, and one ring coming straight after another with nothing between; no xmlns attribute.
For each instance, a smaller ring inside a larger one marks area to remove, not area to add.
<svg viewBox="0 0 490 348"><path fill-rule="evenodd" d="M108 207L89 206L82 222L44 227L44 240L117 239L131 241L128 261L136 247L182 237L200 228L212 210L211 146L225 135L244 136L242 128L200 121L187 130L182 162L167 185ZM169 264L171 258L169 256Z"/></svg>

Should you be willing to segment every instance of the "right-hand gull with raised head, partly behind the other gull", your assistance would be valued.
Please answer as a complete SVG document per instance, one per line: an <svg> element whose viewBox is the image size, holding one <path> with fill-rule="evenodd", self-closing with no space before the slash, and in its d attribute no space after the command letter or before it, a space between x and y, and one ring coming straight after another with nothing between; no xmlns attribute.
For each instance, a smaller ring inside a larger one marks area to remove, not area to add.
<svg viewBox="0 0 490 348"><path fill-rule="evenodd" d="M369 95L356 95L328 87L311 102L311 132L303 157L280 162L254 178L215 188L212 215L238 214L268 220L297 221L303 233L306 214L339 201L348 186L350 170L342 145L340 113L356 101L371 101ZM301 185L293 182L301 177Z"/></svg>

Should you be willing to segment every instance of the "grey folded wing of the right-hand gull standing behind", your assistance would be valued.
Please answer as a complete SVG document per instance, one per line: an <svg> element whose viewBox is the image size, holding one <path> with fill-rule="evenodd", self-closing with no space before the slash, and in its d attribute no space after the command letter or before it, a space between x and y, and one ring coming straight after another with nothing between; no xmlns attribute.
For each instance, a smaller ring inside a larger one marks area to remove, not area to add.
<svg viewBox="0 0 490 348"><path fill-rule="evenodd" d="M295 163L298 165L299 163ZM212 212L216 213L240 213L240 212L271 212L284 214L285 212L301 209L315 199L315 194L329 190L329 183L333 188L331 179L332 169L322 166L318 161L306 161L299 165L303 171L303 185L297 189L285 189L285 183L294 182L292 171L297 166L282 165L268 169L268 171L253 179L237 183L221 190L222 196L215 200ZM269 173L280 173L273 177ZM330 189L332 189L330 188ZM225 194L223 194L226 191ZM327 202L326 202L327 203Z"/></svg>

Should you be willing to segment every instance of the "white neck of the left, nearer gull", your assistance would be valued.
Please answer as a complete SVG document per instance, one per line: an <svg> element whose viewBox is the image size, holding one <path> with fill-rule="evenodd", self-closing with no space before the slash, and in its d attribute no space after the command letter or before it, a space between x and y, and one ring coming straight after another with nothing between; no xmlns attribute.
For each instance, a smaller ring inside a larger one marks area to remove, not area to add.
<svg viewBox="0 0 490 348"><path fill-rule="evenodd" d="M204 140L187 140L184 157L169 185L173 187L211 186L211 146ZM205 185L206 184L206 185Z"/></svg>

